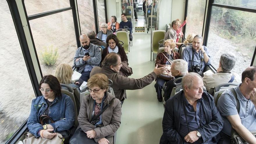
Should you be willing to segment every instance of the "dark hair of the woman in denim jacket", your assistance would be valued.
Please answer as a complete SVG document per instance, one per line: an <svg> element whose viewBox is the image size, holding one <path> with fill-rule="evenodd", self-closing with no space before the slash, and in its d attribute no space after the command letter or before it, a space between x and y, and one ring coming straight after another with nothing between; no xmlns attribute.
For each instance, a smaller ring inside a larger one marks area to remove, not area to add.
<svg viewBox="0 0 256 144"><path fill-rule="evenodd" d="M61 84L56 77L51 74L45 75L39 83L39 88L41 88L42 83L47 83L56 97L61 96Z"/></svg>

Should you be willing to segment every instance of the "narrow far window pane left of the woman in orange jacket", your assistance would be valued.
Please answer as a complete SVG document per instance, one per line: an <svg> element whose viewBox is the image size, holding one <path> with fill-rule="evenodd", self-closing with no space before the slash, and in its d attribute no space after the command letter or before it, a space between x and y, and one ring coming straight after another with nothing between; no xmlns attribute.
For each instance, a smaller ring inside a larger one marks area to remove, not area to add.
<svg viewBox="0 0 256 144"><path fill-rule="evenodd" d="M99 27L100 27L102 23L106 23L104 0L97 0L97 12L98 12Z"/></svg>

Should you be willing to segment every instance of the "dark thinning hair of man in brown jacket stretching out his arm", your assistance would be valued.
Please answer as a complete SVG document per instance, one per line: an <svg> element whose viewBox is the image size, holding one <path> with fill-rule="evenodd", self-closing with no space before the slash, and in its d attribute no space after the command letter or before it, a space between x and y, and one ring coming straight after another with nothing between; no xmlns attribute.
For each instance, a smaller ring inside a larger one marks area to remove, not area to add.
<svg viewBox="0 0 256 144"><path fill-rule="evenodd" d="M116 66L116 65L118 65L118 63L117 63L118 57L120 57L120 55L118 53L111 52L106 55L106 57L104 58L104 60L102 61L101 64L103 66L109 67L109 68L111 65Z"/></svg>

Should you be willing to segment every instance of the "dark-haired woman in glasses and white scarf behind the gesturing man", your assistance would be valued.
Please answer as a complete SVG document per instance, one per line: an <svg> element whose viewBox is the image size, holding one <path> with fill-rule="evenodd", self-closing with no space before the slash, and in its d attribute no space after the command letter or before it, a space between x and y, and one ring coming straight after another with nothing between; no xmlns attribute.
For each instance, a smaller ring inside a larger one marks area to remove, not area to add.
<svg viewBox="0 0 256 144"><path fill-rule="evenodd" d="M119 74L125 77L130 76L132 74L132 69L131 67L128 66L129 65L128 58L125 53L125 49L124 47L122 47L122 45L120 45L116 35L114 34L109 35L106 39L106 43L107 43L107 47L103 49L101 60L103 61L106 55L111 52L118 53L122 61L122 67L119 71Z"/></svg>

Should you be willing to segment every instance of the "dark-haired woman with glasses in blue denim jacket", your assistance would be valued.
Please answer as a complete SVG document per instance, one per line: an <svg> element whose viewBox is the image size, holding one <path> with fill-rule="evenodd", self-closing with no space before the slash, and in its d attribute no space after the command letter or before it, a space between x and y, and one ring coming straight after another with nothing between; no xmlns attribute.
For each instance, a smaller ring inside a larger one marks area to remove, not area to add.
<svg viewBox="0 0 256 144"><path fill-rule="evenodd" d="M69 96L61 93L60 83L53 75L44 76L39 87L42 96L32 100L27 127L36 138L51 139L56 132L68 130L74 125L74 103ZM47 120L42 126L39 120L41 115L49 116L54 123Z"/></svg>

